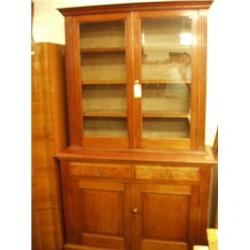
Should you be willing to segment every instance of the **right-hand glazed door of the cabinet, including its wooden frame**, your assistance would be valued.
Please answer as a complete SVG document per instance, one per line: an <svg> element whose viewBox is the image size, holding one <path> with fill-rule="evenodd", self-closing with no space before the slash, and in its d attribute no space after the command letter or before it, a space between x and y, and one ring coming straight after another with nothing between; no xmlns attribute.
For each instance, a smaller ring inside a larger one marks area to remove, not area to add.
<svg viewBox="0 0 250 250"><path fill-rule="evenodd" d="M139 147L191 147L194 16L194 12L178 11L137 15L136 80L142 89L137 104Z"/></svg>

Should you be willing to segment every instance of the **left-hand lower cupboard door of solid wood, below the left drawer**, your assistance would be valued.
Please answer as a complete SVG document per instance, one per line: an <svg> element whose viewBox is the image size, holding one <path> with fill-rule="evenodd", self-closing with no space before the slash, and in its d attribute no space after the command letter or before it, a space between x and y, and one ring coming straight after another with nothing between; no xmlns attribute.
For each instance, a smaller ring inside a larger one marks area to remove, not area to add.
<svg viewBox="0 0 250 250"><path fill-rule="evenodd" d="M125 236L130 213L126 197L129 187L98 180L78 184L82 244L124 249L129 240Z"/></svg>

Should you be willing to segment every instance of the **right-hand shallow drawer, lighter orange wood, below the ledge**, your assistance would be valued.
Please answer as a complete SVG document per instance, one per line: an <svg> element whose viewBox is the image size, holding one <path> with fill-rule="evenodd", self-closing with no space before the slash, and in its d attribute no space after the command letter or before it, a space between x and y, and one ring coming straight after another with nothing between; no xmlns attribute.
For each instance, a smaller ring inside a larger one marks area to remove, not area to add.
<svg viewBox="0 0 250 250"><path fill-rule="evenodd" d="M135 178L144 180L199 181L199 168L136 165Z"/></svg>

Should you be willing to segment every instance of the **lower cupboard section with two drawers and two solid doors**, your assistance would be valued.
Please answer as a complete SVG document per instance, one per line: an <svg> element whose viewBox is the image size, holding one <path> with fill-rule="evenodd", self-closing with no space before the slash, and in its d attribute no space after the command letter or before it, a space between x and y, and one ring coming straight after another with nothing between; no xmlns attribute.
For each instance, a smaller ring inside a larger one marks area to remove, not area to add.
<svg viewBox="0 0 250 250"><path fill-rule="evenodd" d="M62 161L61 176L65 250L189 250L204 243L209 168Z"/></svg>

